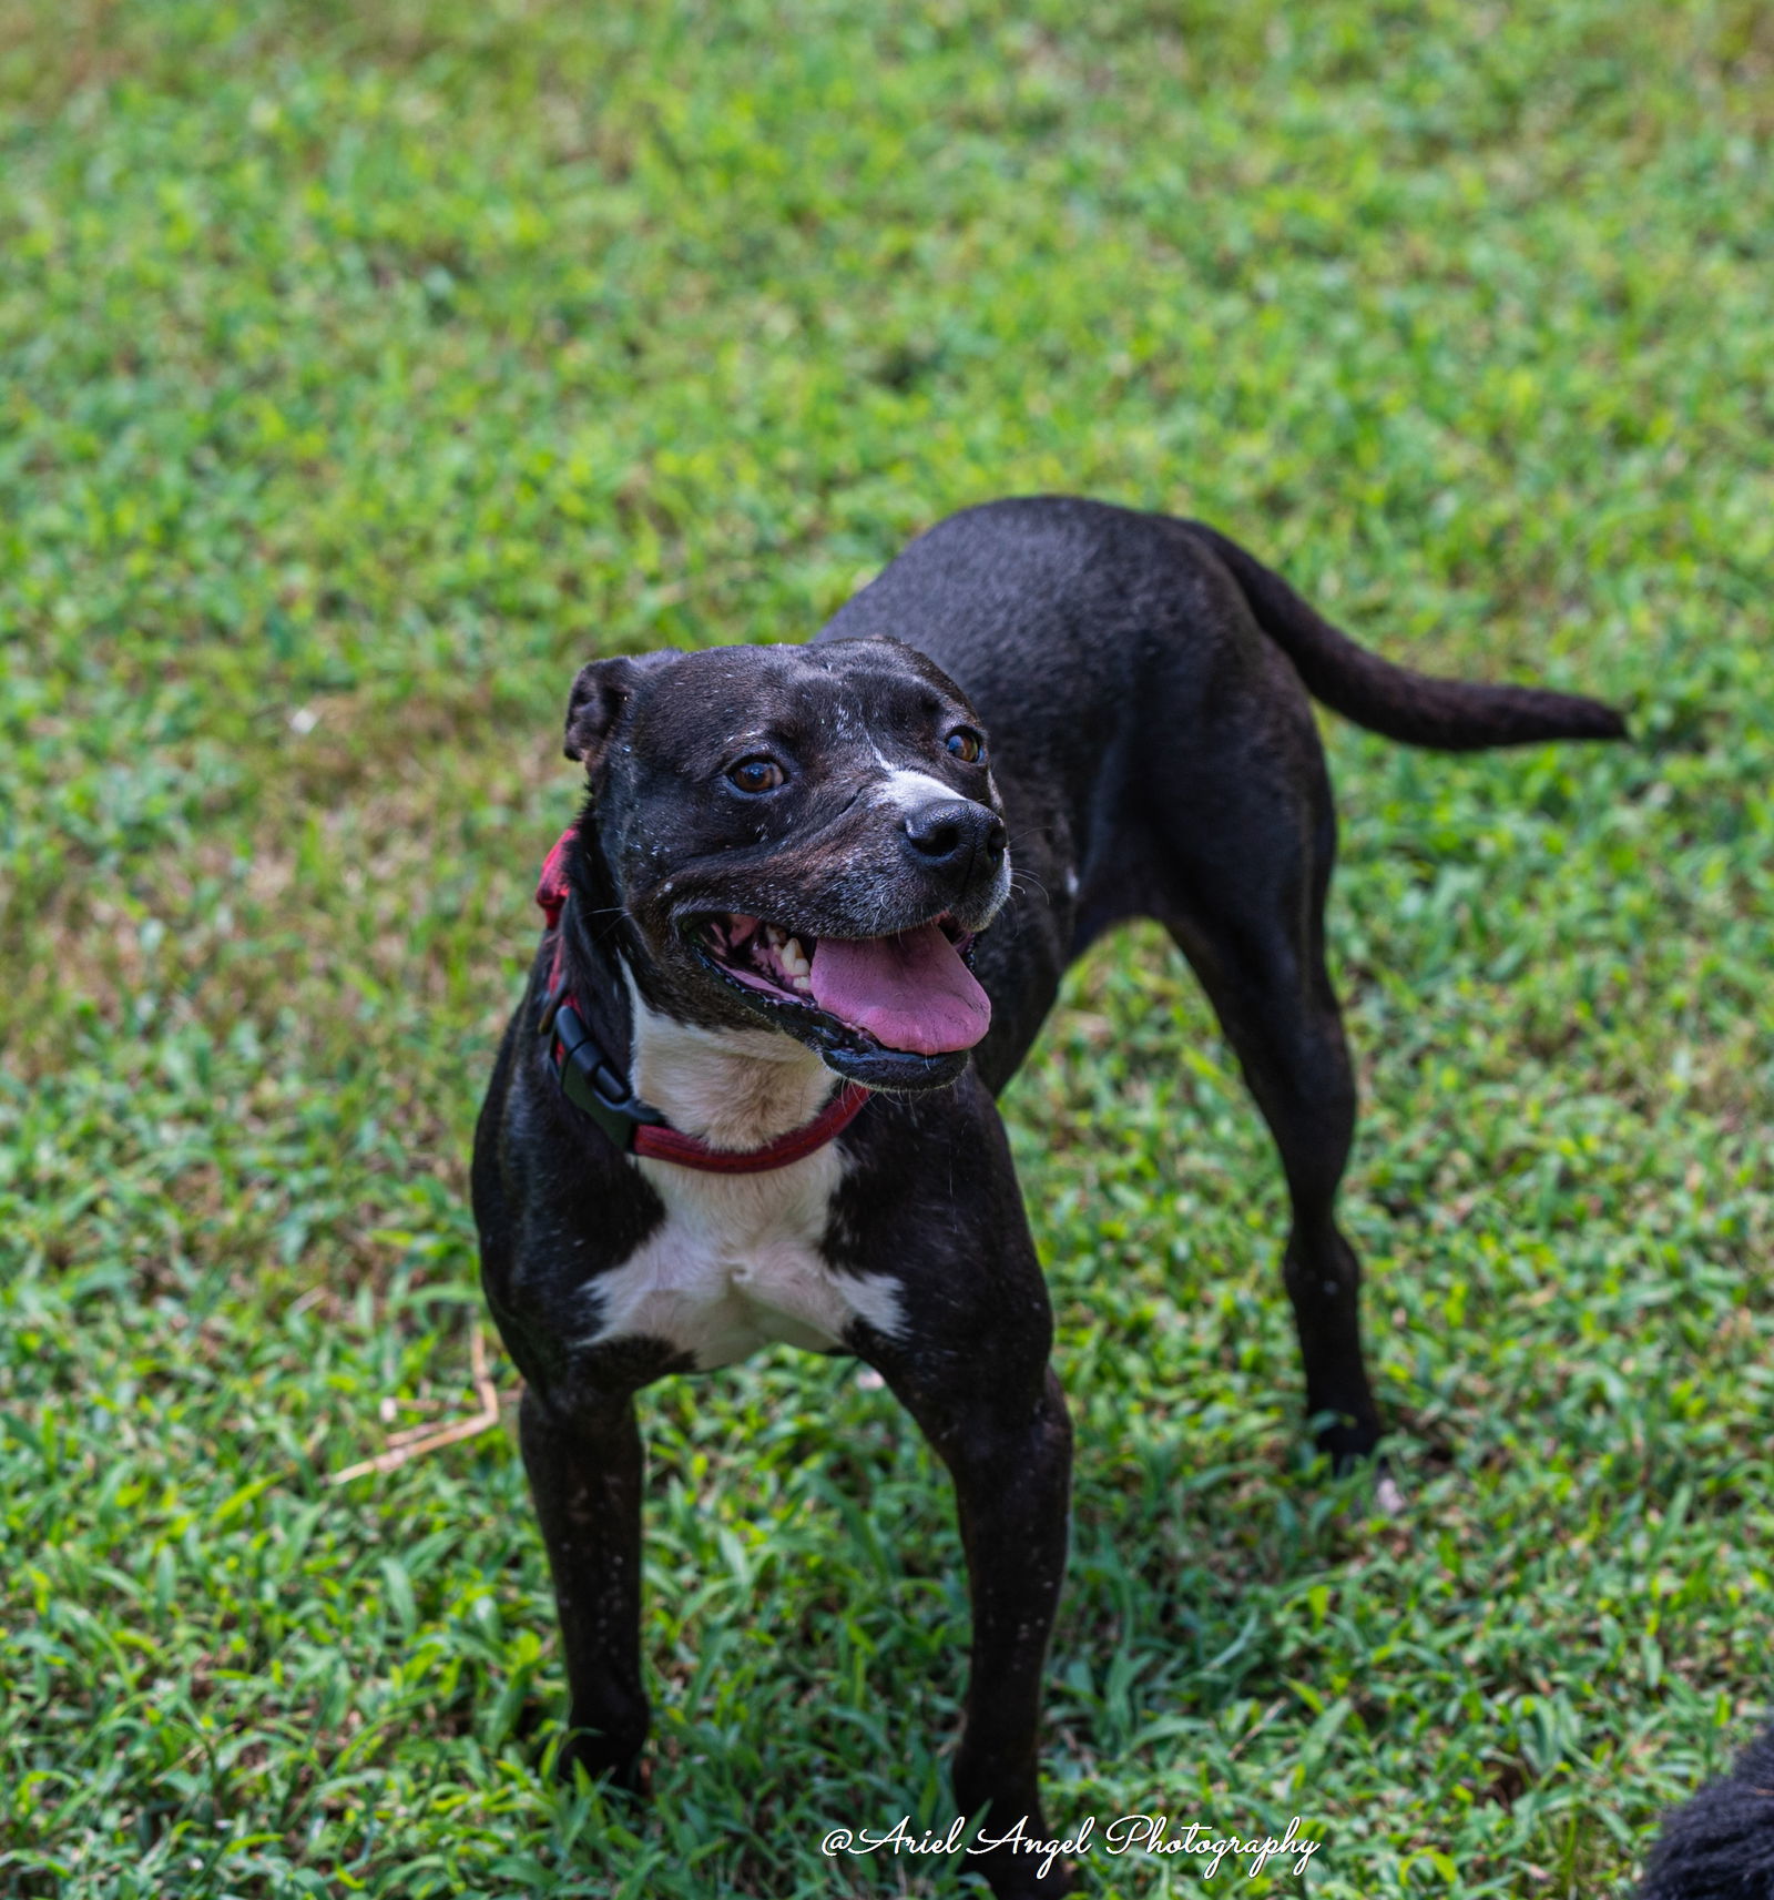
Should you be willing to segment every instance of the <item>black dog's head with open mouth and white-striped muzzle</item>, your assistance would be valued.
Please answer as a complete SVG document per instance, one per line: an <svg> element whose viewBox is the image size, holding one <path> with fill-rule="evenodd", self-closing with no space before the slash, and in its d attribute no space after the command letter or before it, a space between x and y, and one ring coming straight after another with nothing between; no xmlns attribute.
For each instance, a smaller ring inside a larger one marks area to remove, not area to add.
<svg viewBox="0 0 1774 1900"><path fill-rule="evenodd" d="M967 967L1010 889L986 735L896 640L600 659L566 754L650 1007L771 1028L840 1075L953 1081L991 1005Z"/></svg>

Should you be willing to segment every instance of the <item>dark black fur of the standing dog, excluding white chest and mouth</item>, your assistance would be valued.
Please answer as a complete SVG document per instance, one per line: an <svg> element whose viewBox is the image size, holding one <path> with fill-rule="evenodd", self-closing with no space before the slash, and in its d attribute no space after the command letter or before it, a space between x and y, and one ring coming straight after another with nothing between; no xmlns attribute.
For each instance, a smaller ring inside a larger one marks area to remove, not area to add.
<svg viewBox="0 0 1774 1900"><path fill-rule="evenodd" d="M1335 821L1309 690L1417 745L1622 732L1588 699L1392 667L1223 536L1071 500L942 522L807 648L602 661L574 688L568 749L593 802L570 864L566 963L617 1053L629 1036L617 960L653 1009L756 1026L764 1005L695 954L703 910L860 937L990 908L984 844L933 866L859 794L870 750L940 779L976 809L982 840L999 817L1009 826L1016 893L978 942L993 1020L971 1064L891 1060L841 1026L777 1022L832 1068L904 1091L876 1096L841 1136L847 1168L821 1250L836 1275L896 1279L910 1330L857 1324L843 1345L881 1370L955 1482L974 1615L953 1771L967 1813L1041 1824L1037 1714L1069 1474L1052 1319L993 1094L1066 965L1124 918L1157 918L1183 948L1280 1150L1307 1412L1330 1419L1322 1442L1339 1457L1379 1438L1360 1269L1333 1220L1354 1083L1324 965ZM955 718L990 733L990 773L944 752ZM794 783L735 804L724 747L750 730L794 758ZM482 1112L475 1214L488 1300L528 1383L522 1442L560 1600L570 1759L638 1786L632 1395L686 1364L663 1341L574 1338L596 1311L598 1275L659 1226L663 1205L560 1100L534 1034L541 982L539 960ZM1064 1881L1037 1883L1024 1860L988 1873L999 1894Z"/></svg>

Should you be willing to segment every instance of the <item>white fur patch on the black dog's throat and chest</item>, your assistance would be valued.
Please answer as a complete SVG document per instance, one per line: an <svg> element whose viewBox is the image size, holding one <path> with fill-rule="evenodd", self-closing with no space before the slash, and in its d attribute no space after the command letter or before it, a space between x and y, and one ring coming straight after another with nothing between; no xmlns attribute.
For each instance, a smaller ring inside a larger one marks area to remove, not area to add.
<svg viewBox="0 0 1774 1900"><path fill-rule="evenodd" d="M811 1121L836 1075L773 1030L697 1030L655 1016L632 992L634 1089L674 1129L716 1146L758 1148ZM765 1174L705 1174L670 1161L636 1167L665 1224L587 1288L585 1340L644 1336L727 1366L760 1345L826 1349L851 1320L900 1330L898 1281L840 1273L821 1252L843 1157L828 1144Z"/></svg>

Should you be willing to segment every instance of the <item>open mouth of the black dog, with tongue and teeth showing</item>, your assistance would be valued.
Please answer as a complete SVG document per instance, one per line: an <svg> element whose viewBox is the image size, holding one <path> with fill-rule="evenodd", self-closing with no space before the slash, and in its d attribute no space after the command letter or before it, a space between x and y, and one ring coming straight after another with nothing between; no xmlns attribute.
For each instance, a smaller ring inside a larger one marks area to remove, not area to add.
<svg viewBox="0 0 1774 1900"><path fill-rule="evenodd" d="M881 1049L946 1054L991 1026L991 1001L967 967L972 937L948 916L893 937L805 937L727 912L701 922L697 946L754 996L822 1011Z"/></svg>

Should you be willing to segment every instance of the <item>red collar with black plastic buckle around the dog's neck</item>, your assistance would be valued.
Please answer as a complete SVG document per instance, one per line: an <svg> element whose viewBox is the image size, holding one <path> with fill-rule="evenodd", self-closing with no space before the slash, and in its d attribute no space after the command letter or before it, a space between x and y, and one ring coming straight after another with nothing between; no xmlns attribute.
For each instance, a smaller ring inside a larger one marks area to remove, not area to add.
<svg viewBox="0 0 1774 1900"><path fill-rule="evenodd" d="M541 882L536 885L536 902L549 920L545 935L555 939L541 1028L549 1034L549 1066L568 1102L583 1110L623 1153L674 1161L680 1168L701 1168L705 1174L767 1174L815 1153L841 1134L868 1102L868 1091L851 1081L840 1085L813 1121L779 1134L764 1148L743 1150L710 1148L693 1134L680 1134L634 1094L629 1079L598 1049L566 988L560 912L572 895L566 880L572 838L572 830L564 830L555 840L555 849L541 866Z"/></svg>

